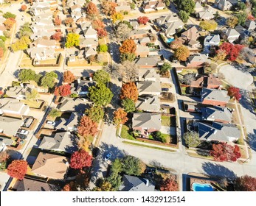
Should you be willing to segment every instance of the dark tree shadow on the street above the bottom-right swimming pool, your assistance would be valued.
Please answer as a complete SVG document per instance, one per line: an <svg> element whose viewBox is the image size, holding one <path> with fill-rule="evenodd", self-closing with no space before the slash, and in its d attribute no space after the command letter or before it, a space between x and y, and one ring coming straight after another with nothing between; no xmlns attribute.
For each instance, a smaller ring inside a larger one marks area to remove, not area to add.
<svg viewBox="0 0 256 206"><path fill-rule="evenodd" d="M237 177L234 171L217 163L203 163L202 168L204 173L210 176L226 177L229 180L234 180Z"/></svg>

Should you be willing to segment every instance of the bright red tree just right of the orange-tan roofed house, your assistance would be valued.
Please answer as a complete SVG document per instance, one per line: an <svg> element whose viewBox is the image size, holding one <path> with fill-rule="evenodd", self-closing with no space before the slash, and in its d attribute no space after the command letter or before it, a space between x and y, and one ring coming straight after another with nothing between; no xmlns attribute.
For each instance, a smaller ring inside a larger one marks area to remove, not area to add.
<svg viewBox="0 0 256 206"><path fill-rule="evenodd" d="M84 167L90 167L91 163L92 163L92 156L84 150L74 152L70 157L71 168L81 169Z"/></svg>

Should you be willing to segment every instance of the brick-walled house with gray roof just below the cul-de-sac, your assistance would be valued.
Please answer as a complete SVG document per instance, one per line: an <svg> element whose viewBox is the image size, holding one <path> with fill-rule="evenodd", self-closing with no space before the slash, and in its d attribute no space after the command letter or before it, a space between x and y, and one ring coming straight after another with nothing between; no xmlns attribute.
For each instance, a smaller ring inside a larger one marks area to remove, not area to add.
<svg viewBox="0 0 256 206"><path fill-rule="evenodd" d="M229 96L226 90L215 90L203 88L201 92L201 102L203 104L210 104L213 106L226 106L229 102Z"/></svg>

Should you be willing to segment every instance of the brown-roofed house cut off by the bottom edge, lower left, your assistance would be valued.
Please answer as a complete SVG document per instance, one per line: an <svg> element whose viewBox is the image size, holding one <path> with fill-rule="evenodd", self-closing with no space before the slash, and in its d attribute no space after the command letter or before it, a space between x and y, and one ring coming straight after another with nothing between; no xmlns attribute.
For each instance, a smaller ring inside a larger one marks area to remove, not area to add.
<svg viewBox="0 0 256 206"><path fill-rule="evenodd" d="M60 187L57 185L27 178L16 181L13 189L15 191L60 191Z"/></svg>

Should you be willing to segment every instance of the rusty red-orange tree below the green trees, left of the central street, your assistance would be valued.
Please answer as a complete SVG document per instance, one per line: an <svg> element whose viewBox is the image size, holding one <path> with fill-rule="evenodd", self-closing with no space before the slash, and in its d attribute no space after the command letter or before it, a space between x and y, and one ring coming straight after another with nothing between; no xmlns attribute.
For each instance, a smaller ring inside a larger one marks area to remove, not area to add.
<svg viewBox="0 0 256 206"><path fill-rule="evenodd" d="M80 120L80 124L77 127L78 134L83 137L95 136L98 132L98 124L95 121L92 121L89 116L83 116Z"/></svg>

